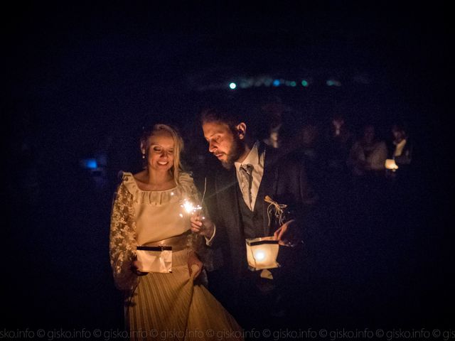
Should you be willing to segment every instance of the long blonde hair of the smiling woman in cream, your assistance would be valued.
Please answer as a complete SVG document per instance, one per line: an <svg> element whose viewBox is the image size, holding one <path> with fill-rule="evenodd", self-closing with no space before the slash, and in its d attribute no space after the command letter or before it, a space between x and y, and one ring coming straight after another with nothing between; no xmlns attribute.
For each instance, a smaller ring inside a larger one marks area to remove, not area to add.
<svg viewBox="0 0 455 341"><path fill-rule="evenodd" d="M170 134L173 139L173 166L170 171L173 175L173 180L177 185L179 185L180 183L178 182L178 176L180 172L183 171L180 163L180 154L181 151L183 151L183 139L181 138L180 134L178 134L177 129L173 128L172 126L168 126L167 124L155 124L151 127L151 129L146 129L142 133L141 146L144 146L146 156L148 156L150 148L150 137L162 132ZM146 167L146 164L144 167Z"/></svg>

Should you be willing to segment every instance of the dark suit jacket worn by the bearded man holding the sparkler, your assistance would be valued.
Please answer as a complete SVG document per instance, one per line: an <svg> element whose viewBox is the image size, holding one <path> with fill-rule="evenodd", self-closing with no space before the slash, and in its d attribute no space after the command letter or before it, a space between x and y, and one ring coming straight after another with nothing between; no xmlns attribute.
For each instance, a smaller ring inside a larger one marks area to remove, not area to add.
<svg viewBox="0 0 455 341"><path fill-rule="evenodd" d="M286 204L291 209L290 217L295 219L294 232L299 232L305 243L306 237L311 234L310 224L307 224L309 208L314 205L314 193L309 188L303 161L289 156L280 156L277 150L268 146L259 146L259 152L266 148L264 157L264 174L259 191L269 195L279 204ZM263 188L262 188L263 186ZM225 265L232 271L235 279L242 277L247 269L245 237L240 218L239 198L237 197L238 182L235 168L221 170L215 178L215 198L217 212L213 214L216 224L216 233L213 238L213 247L225 249ZM241 199L240 199L241 200ZM264 197L257 197L264 200ZM263 207L263 236L271 236L279 227L277 224L268 224L267 202ZM280 247L279 256L294 253L294 249ZM301 249L301 248L300 248ZM282 258L280 264L286 260ZM284 264L282 264L284 265ZM282 270L280 270L282 271ZM272 271L273 273L273 271ZM275 274L274 274L275 276Z"/></svg>

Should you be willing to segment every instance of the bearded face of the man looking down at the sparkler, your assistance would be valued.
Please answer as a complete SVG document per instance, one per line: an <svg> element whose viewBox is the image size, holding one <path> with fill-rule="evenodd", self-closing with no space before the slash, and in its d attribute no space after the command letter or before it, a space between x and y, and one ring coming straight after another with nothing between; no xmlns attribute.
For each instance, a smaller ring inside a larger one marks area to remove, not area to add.
<svg viewBox="0 0 455 341"><path fill-rule="evenodd" d="M230 169L242 153L245 145L228 126L221 122L205 122L202 126L208 151L221 161L224 168Z"/></svg>

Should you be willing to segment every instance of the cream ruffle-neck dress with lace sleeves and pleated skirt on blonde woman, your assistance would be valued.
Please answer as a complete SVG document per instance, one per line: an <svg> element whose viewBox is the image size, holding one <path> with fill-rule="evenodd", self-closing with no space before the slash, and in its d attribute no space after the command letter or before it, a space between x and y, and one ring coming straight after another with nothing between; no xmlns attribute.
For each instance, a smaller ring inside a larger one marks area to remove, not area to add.
<svg viewBox="0 0 455 341"><path fill-rule="evenodd" d="M242 328L205 286L193 282L188 251L194 245L181 200L195 200L193 179L181 173L171 190L140 190L123 173L112 207L110 257L117 288L126 293L132 340L242 340ZM131 269L136 247L187 232L188 246L172 254L172 273L137 276Z"/></svg>

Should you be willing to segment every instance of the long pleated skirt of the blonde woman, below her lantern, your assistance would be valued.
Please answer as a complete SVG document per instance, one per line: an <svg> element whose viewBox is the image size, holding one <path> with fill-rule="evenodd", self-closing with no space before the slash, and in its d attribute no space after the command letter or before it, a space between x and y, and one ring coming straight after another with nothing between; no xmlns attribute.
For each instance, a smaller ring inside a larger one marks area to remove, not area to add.
<svg viewBox="0 0 455 341"><path fill-rule="evenodd" d="M215 297L193 282L188 251L172 254L171 274L147 274L127 305L132 340L243 340L242 328Z"/></svg>

